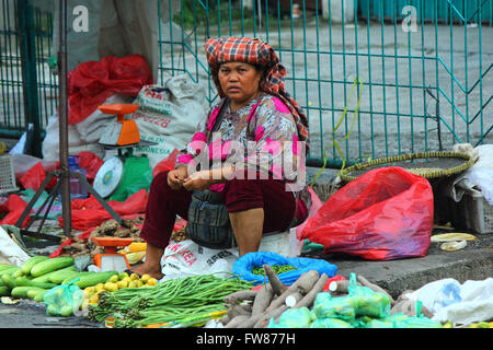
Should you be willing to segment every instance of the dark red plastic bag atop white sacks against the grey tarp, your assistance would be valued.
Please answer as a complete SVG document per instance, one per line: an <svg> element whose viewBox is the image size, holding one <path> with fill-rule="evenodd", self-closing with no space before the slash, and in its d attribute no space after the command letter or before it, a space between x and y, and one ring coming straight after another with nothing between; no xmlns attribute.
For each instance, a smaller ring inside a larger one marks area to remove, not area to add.
<svg viewBox="0 0 493 350"><path fill-rule="evenodd" d="M68 73L69 124L84 120L115 93L136 97L152 73L141 55L106 56L79 65Z"/></svg>

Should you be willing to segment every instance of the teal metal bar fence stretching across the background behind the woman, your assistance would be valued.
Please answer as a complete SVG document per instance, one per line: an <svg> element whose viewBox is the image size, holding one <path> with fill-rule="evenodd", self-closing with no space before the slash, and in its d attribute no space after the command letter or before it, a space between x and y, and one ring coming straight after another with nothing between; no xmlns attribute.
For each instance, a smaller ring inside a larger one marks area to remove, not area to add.
<svg viewBox="0 0 493 350"><path fill-rule="evenodd" d="M56 80L44 72L50 14L32 10L35 49L24 58L30 32L9 7L27 1L1 1L0 133L19 133L33 118L43 129L56 107ZM206 38L259 37L274 47L309 117L311 164L493 142L493 0L149 1L173 14L160 22L158 83L185 73L206 86L209 103L217 95ZM37 113L24 117L26 108Z"/></svg>

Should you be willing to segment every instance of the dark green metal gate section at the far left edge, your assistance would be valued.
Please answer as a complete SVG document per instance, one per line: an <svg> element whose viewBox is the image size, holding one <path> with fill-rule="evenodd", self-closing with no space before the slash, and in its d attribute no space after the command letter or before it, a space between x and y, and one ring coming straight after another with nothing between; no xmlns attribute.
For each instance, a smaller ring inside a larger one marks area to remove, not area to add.
<svg viewBox="0 0 493 350"><path fill-rule="evenodd" d="M57 106L57 77L51 56L53 14L34 9L27 0L0 2L0 136L19 139L33 127L33 143ZM41 148L35 148L42 156Z"/></svg>

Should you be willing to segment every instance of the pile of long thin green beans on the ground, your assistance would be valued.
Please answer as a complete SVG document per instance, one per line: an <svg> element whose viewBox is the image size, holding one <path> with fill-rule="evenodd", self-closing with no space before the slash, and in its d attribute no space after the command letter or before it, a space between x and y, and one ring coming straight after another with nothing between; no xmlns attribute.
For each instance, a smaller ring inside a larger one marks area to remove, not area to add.
<svg viewBox="0 0 493 350"><path fill-rule="evenodd" d="M153 324L177 324L204 314L225 310L223 298L253 285L237 277L214 275L170 279L153 287L125 288L100 293L89 305L88 318L103 322L114 315L115 328L139 328Z"/></svg>

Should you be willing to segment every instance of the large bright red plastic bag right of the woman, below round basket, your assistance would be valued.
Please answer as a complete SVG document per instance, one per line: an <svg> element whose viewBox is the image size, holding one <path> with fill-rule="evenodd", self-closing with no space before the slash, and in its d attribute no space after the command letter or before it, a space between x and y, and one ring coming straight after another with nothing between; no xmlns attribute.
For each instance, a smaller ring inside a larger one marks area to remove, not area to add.
<svg viewBox="0 0 493 350"><path fill-rule="evenodd" d="M370 171L341 188L308 219L301 238L324 253L370 260L426 255L433 230L433 190L402 167Z"/></svg>

